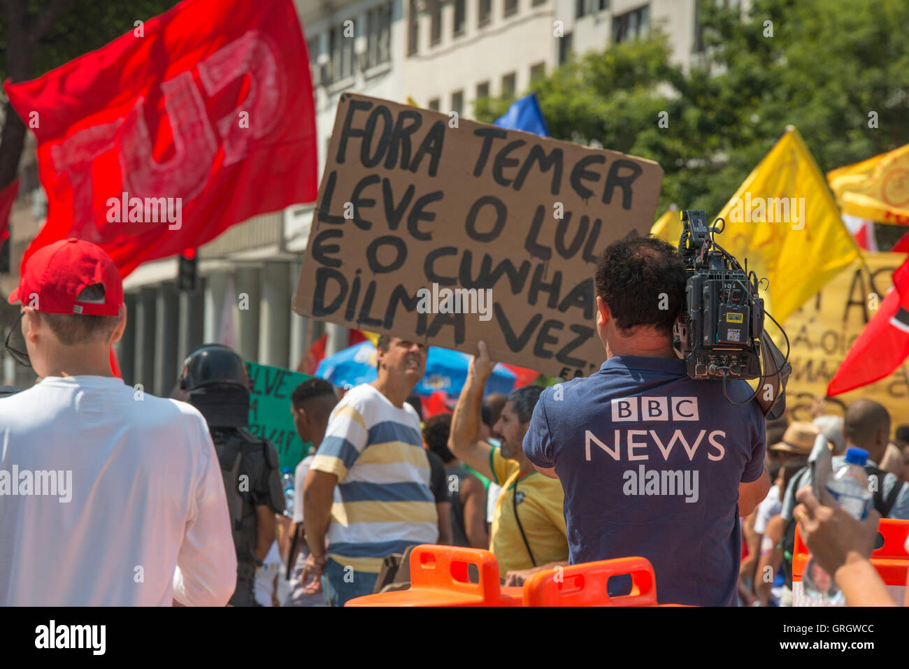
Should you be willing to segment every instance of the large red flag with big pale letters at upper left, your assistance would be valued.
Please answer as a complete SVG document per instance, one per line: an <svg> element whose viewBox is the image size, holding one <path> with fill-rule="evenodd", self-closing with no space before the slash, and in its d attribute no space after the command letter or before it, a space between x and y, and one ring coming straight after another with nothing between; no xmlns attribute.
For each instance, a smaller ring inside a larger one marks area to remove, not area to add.
<svg viewBox="0 0 909 669"><path fill-rule="evenodd" d="M25 252L75 236L121 275L316 195L309 57L292 0L185 0L34 81L47 224Z"/></svg>

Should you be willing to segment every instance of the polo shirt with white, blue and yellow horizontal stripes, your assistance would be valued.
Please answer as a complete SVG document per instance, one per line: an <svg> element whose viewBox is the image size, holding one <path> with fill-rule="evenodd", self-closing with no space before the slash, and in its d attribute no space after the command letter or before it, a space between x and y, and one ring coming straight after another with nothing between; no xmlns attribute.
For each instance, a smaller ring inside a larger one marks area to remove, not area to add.
<svg viewBox="0 0 909 669"><path fill-rule="evenodd" d="M385 555L438 541L435 497L420 419L370 384L335 406L312 469L337 474L328 556L377 574Z"/></svg>

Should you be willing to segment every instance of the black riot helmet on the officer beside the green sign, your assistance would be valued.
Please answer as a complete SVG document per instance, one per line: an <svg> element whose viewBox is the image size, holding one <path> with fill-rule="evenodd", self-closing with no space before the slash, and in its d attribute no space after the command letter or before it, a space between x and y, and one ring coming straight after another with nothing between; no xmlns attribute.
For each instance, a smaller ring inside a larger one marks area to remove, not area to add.
<svg viewBox="0 0 909 669"><path fill-rule="evenodd" d="M179 385L209 427L247 424L249 377L243 358L229 346L203 344L186 356Z"/></svg>

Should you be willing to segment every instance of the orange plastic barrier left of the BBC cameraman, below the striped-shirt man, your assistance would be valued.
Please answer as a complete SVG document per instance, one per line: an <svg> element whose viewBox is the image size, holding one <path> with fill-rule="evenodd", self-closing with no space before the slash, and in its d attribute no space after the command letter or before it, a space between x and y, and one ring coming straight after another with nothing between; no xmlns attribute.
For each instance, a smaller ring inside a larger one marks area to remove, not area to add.
<svg viewBox="0 0 909 669"><path fill-rule="evenodd" d="M479 583L470 582L469 564ZM409 590L367 594L345 606L520 606L522 592L499 585L499 564L489 551L424 544L410 554Z"/></svg>

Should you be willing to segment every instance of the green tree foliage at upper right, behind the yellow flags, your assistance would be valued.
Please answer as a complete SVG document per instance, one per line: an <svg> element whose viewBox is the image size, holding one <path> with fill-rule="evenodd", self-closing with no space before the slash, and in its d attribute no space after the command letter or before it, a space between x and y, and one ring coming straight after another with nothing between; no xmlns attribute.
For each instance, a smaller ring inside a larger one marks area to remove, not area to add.
<svg viewBox="0 0 909 669"><path fill-rule="evenodd" d="M704 53L687 71L652 29L531 87L554 137L663 166L658 215L671 203L719 212L788 124L824 172L909 143L904 0L754 0L741 13L702 0L701 24ZM510 102L480 101L477 118Z"/></svg>

